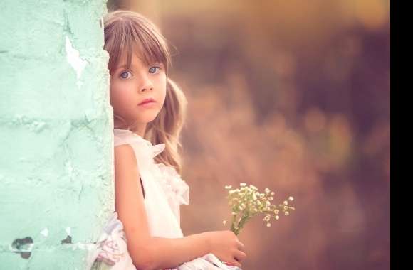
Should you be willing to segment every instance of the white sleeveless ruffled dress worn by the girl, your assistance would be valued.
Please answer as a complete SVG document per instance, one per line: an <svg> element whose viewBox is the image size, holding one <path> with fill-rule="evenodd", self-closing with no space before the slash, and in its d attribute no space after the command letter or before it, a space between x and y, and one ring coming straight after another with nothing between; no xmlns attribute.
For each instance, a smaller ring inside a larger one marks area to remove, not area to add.
<svg viewBox="0 0 413 270"><path fill-rule="evenodd" d="M140 179L145 193L144 203L152 237L184 237L180 227L180 205L189 204L189 186L171 166L155 163L154 157L161 153L164 144L152 145L150 141L126 129L114 129L114 146L130 144L137 160ZM137 179L139 180L139 179ZM127 252L127 239L117 212L103 229L98 241L91 269L135 270ZM174 269L209 270L239 269L227 266L214 254L187 261ZM241 269L239 269L241 270Z"/></svg>

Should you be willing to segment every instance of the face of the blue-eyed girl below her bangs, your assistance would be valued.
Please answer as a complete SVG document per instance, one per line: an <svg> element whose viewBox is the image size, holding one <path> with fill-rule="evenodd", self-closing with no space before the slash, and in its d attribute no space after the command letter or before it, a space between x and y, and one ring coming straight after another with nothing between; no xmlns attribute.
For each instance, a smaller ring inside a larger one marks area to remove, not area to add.
<svg viewBox="0 0 413 270"><path fill-rule="evenodd" d="M162 63L146 65L137 55L132 55L130 69L125 63L117 65L110 76L110 104L113 113L137 129L145 129L157 117L164 104L167 76ZM141 104L145 99L155 102ZM116 119L115 126L117 125ZM121 124L121 123L120 123Z"/></svg>

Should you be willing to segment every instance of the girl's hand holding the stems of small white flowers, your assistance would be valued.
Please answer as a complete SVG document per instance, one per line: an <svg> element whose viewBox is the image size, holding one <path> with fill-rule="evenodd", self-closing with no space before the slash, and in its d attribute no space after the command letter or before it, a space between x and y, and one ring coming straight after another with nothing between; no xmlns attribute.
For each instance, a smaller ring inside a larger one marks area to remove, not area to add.
<svg viewBox="0 0 413 270"><path fill-rule="evenodd" d="M204 232L209 251L221 261L228 262L241 268L241 261L244 261L246 254L244 253L244 244L230 230Z"/></svg>

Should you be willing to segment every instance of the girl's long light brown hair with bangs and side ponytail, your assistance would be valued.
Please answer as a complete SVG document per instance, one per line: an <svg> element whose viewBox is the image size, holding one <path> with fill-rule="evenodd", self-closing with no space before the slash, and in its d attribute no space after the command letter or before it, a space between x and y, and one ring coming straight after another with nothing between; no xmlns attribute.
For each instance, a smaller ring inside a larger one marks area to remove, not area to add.
<svg viewBox="0 0 413 270"><path fill-rule="evenodd" d="M106 14L104 21L104 49L108 51L110 56L108 63L110 75L113 74L115 67L125 56L127 67L130 68L134 52L139 52L147 65L155 62L164 64L167 75L167 93L164 106L157 117L147 123L144 137L152 144L165 144L164 151L155 156L157 163L172 166L178 173L182 173L180 156L182 144L179 142L179 134L184 125L187 99L182 90L168 76L172 61L166 39L154 23L133 11L110 12ZM127 124L122 117L115 115L115 113L114 118Z"/></svg>

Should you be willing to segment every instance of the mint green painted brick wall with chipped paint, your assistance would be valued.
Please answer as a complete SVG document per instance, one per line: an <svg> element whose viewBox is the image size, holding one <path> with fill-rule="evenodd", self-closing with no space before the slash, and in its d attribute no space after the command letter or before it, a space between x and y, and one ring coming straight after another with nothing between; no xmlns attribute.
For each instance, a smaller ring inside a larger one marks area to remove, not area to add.
<svg viewBox="0 0 413 270"><path fill-rule="evenodd" d="M106 12L0 1L0 269L85 269L115 209Z"/></svg>

